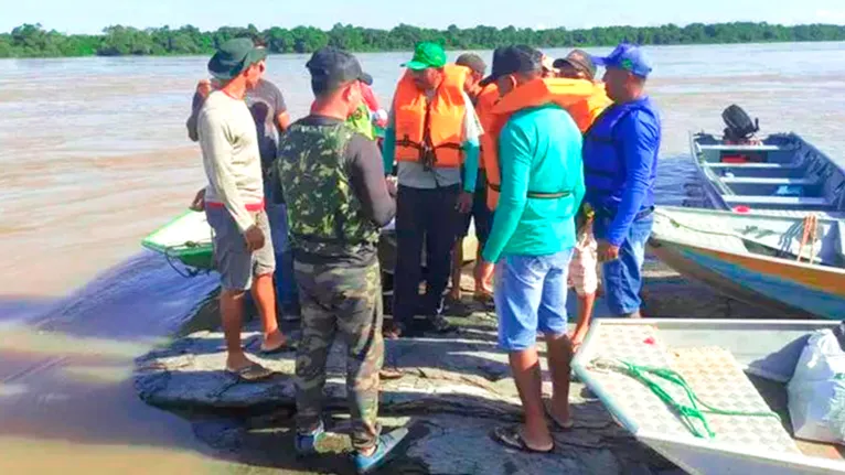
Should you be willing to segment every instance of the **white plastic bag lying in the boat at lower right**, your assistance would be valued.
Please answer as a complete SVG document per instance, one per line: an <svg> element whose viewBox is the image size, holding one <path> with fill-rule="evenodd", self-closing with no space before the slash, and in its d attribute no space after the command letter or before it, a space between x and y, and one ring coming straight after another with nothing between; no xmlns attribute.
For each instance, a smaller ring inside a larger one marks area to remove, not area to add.
<svg viewBox="0 0 845 475"><path fill-rule="evenodd" d="M788 391L795 438L845 444L845 352L834 332L810 336Z"/></svg>

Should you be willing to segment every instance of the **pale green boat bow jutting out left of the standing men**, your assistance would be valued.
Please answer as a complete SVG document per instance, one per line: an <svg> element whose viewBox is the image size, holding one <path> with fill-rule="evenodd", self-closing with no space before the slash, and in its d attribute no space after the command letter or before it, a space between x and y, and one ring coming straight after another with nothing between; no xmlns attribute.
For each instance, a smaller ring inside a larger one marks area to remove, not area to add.
<svg viewBox="0 0 845 475"><path fill-rule="evenodd" d="M150 233L141 246L163 255L171 266L175 261L181 262L188 267L189 273L214 269L212 228L203 212L188 210L180 214Z"/></svg>

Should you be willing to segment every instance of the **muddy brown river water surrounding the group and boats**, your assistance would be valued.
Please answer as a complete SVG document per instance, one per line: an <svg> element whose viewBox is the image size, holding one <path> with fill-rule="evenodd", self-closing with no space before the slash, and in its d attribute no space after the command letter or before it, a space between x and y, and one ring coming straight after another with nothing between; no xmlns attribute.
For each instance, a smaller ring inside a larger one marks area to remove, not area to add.
<svg viewBox="0 0 845 475"><path fill-rule="evenodd" d="M845 155L845 43L649 52L649 89L664 125L661 203L689 199L688 132L720 131L721 110L734 102L759 117L763 132L795 131ZM387 104L409 54L360 58ZM311 100L306 61L267 63L295 118ZM0 61L0 473L231 468L188 422L142 404L129 379L132 359L179 330L215 288L213 277L184 279L139 246L203 184L184 120L206 62Z"/></svg>

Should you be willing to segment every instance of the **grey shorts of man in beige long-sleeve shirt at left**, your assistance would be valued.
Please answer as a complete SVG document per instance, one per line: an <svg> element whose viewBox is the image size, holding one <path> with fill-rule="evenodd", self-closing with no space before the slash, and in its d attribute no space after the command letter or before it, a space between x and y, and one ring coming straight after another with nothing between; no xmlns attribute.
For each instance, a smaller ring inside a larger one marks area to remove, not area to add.
<svg viewBox="0 0 845 475"><path fill-rule="evenodd" d="M271 274L276 270L272 235L267 213L254 213L255 223L264 233L264 247L249 252L246 239L226 208L205 207L208 225L214 229L214 263L225 290L246 291L253 287L253 277Z"/></svg>

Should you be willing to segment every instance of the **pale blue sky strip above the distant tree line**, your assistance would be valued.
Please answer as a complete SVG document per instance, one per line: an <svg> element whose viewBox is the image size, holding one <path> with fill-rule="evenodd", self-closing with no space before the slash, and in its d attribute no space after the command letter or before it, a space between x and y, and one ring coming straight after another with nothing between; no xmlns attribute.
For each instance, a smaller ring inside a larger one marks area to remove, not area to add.
<svg viewBox="0 0 845 475"><path fill-rule="evenodd" d="M682 7L683 4L683 7ZM568 29L768 21L845 24L845 0L0 0L0 32L41 23L64 33L99 33L113 24L201 30L254 23L330 29L335 23L389 29L485 24Z"/></svg>

